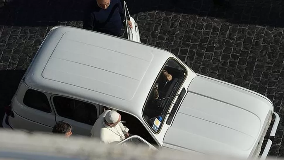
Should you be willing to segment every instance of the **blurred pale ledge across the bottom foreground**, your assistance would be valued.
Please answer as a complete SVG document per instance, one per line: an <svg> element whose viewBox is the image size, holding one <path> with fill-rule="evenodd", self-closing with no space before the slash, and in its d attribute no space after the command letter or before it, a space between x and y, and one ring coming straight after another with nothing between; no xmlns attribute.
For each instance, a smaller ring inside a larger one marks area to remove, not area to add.
<svg viewBox="0 0 284 160"><path fill-rule="evenodd" d="M96 139L71 136L69 139L58 135L20 131L0 130L0 160L233 160L222 156L184 153L161 149L149 152L141 146L122 147L100 144ZM235 159L238 160L238 159Z"/></svg>

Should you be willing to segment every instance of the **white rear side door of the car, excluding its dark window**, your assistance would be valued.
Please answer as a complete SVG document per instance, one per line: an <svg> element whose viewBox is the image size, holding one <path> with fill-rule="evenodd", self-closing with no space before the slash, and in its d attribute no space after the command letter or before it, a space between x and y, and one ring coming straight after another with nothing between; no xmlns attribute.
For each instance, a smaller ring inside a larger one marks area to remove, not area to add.
<svg viewBox="0 0 284 160"><path fill-rule="evenodd" d="M84 136L91 136L91 129L93 127L93 125L88 125L88 124L85 124L85 123L82 123L82 122L77 122L75 120L71 120L69 118L65 118L65 117L62 117L60 115L58 115L57 113L57 110L54 106L54 103L53 103L53 97L54 96L61 96L61 97L66 97L66 98L71 98L71 99L74 99L74 100L78 100L78 101L82 101L80 99L76 99L76 98L72 98L72 97L68 97L68 96L62 96L62 95L53 95L51 96L51 103L52 103L52 107L54 109L54 113L55 113L55 120L56 122L59 122L61 120L65 121L65 122L68 122L71 126L72 126L72 133L73 135L84 135ZM90 103L90 102L87 102L87 101L82 101L82 102L85 102L85 103ZM94 104L94 103L90 103L92 105L94 105L96 107L96 110L97 110L97 117L99 116L99 105L97 104Z"/></svg>

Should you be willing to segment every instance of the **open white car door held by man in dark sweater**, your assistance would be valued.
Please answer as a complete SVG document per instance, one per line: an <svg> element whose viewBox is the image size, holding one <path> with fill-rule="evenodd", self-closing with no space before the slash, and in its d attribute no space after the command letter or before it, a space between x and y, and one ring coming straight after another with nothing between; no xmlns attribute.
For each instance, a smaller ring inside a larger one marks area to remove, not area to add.
<svg viewBox="0 0 284 160"><path fill-rule="evenodd" d="M130 16L125 1L123 1L123 9L124 9L125 31L126 31L126 33L127 33L127 38L128 38L129 40L132 40L132 41L141 43L138 25L137 25L137 23L134 21L134 18L132 18L132 17ZM132 23L132 29L131 29L131 28L129 27L129 25L127 24L127 21L129 21L129 20L130 20L131 23Z"/></svg>

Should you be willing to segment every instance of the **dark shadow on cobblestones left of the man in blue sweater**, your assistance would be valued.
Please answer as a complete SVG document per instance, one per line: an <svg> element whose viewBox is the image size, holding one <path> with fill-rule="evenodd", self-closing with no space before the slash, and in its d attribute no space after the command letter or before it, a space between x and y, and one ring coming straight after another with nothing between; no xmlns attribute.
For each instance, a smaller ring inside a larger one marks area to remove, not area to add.
<svg viewBox="0 0 284 160"><path fill-rule="evenodd" d="M81 21L88 1L6 0L0 8L0 25L52 26L59 21Z"/></svg>

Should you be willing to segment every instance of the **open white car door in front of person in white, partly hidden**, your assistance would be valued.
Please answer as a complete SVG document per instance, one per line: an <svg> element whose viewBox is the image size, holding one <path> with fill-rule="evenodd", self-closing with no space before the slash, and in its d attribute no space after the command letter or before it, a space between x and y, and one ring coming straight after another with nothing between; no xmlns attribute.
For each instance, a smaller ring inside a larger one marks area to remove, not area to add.
<svg viewBox="0 0 284 160"><path fill-rule="evenodd" d="M131 145L146 145L149 147L149 149L154 150L154 151L158 151L158 149L156 147L154 147L152 144L150 144L149 142L147 142L145 139L143 139L140 136L137 135L133 135L131 137L128 137L122 141L120 141L119 143L117 143L117 145L123 145L123 144L131 144Z"/></svg>

